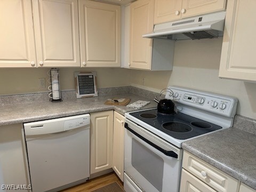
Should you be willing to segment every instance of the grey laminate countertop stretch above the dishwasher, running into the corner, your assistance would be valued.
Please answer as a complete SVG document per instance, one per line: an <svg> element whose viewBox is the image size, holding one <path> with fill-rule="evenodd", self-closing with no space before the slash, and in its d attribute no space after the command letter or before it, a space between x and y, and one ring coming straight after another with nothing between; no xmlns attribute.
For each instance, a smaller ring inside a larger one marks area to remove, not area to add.
<svg viewBox="0 0 256 192"><path fill-rule="evenodd" d="M154 108L157 106L157 103L153 100L132 93L81 99L68 99L63 100L62 102L43 101L19 103L15 105L1 106L0 126L41 121L44 119L66 117L105 110L116 110L118 113L124 115L124 113L127 111L135 110L126 108L126 106L104 105L104 102L109 98L130 98L130 103L138 100L150 101L147 106L141 109Z"/></svg>

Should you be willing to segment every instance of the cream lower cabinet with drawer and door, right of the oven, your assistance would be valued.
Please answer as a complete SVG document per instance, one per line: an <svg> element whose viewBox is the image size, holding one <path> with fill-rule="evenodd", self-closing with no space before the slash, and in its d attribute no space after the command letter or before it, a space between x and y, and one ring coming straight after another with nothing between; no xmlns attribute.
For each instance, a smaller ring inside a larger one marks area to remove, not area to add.
<svg viewBox="0 0 256 192"><path fill-rule="evenodd" d="M239 181L202 161L183 152L180 192L183 191L238 191Z"/></svg>

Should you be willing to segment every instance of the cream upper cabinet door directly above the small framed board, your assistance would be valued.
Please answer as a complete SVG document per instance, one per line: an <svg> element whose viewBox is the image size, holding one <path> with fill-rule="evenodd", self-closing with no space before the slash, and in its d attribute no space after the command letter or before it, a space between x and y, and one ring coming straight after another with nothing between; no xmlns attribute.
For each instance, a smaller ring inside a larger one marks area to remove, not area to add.
<svg viewBox="0 0 256 192"><path fill-rule="evenodd" d="M119 5L79 1L79 27L83 67L120 67Z"/></svg>

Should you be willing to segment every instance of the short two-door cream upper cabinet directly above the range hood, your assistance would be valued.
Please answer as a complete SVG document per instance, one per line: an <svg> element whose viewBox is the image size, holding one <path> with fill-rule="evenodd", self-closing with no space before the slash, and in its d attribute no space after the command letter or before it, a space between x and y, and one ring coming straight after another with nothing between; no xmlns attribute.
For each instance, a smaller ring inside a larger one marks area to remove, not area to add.
<svg viewBox="0 0 256 192"><path fill-rule="evenodd" d="M226 0L155 0L154 24L226 9Z"/></svg>

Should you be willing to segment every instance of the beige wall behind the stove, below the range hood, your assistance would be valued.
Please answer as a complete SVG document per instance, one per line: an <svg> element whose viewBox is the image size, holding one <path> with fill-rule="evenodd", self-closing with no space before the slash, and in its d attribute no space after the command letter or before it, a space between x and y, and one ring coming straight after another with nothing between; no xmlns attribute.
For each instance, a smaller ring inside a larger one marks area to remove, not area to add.
<svg viewBox="0 0 256 192"><path fill-rule="evenodd" d="M238 98L237 114L256 119L256 83L219 79L222 38L175 42L172 71L131 70L131 85L150 91L167 86L230 95Z"/></svg>

